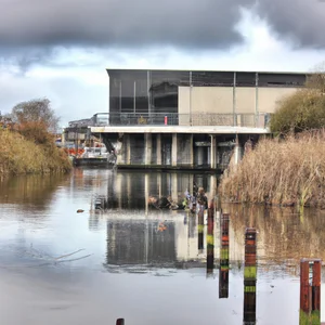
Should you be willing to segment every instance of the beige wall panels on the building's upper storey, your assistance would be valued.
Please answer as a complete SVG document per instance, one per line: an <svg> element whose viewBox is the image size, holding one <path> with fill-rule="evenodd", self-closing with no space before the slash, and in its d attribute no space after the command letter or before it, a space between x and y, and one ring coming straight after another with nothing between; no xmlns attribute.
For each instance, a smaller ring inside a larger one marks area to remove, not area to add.
<svg viewBox="0 0 325 325"><path fill-rule="evenodd" d="M274 113L277 102L292 94L297 88L255 87L235 88L235 112L242 114ZM232 87L179 87L179 113L223 113L231 114L234 108L234 89ZM258 104L258 107L256 107ZM180 116L185 122L187 116Z"/></svg>

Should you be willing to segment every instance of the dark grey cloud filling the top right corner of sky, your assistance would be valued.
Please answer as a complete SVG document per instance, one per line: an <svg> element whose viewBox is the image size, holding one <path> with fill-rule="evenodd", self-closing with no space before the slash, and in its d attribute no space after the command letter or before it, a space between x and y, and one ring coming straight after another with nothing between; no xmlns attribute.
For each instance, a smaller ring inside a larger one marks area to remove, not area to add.
<svg viewBox="0 0 325 325"><path fill-rule="evenodd" d="M325 48L325 0L259 0L257 13L296 48Z"/></svg>

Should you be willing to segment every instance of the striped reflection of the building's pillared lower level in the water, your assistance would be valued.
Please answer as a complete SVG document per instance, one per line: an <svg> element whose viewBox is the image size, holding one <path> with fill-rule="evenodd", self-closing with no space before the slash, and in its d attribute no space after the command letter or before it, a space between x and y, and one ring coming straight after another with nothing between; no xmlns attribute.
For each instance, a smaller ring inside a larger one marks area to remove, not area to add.
<svg viewBox="0 0 325 325"><path fill-rule="evenodd" d="M204 187L208 197L214 195L216 182L212 176L193 173L135 173L110 172L106 191L101 191L92 203L92 209L159 209L153 203L160 199L172 202L178 208L182 207L185 193L192 194L193 187Z"/></svg>

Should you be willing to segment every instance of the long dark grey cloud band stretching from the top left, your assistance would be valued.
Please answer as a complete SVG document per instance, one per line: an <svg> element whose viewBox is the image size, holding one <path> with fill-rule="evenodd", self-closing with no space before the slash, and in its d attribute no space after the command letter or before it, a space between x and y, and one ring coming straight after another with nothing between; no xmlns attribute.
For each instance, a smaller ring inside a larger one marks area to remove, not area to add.
<svg viewBox="0 0 325 325"><path fill-rule="evenodd" d="M0 0L0 47L221 49L252 0Z"/></svg>

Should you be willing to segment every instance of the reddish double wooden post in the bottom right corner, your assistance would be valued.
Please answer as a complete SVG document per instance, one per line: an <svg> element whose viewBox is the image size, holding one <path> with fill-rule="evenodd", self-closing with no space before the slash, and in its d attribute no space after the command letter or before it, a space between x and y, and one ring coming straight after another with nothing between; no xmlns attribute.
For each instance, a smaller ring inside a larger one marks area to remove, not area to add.
<svg viewBox="0 0 325 325"><path fill-rule="evenodd" d="M300 261L300 325L321 324L322 260Z"/></svg>

